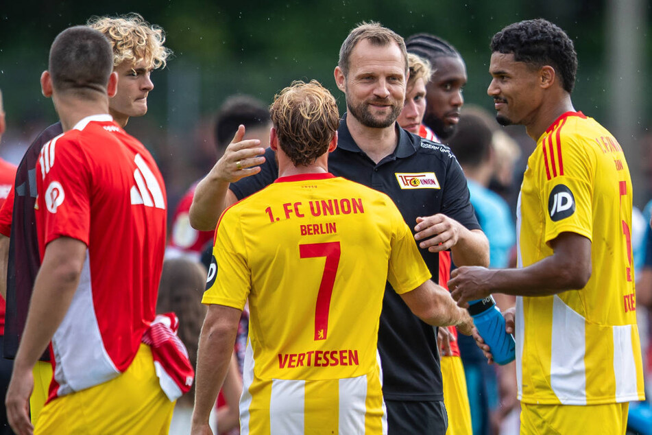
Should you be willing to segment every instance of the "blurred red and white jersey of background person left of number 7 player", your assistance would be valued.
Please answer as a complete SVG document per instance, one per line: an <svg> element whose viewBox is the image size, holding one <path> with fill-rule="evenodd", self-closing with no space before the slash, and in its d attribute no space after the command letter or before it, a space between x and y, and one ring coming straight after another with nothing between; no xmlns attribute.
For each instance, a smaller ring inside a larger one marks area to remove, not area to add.
<svg viewBox="0 0 652 435"><path fill-rule="evenodd" d="M172 237L167 247L167 257L188 255L199 261L206 243L213 240L215 230L197 231L190 225L190 206L193 203L197 183L193 184L181 198L172 217Z"/></svg>

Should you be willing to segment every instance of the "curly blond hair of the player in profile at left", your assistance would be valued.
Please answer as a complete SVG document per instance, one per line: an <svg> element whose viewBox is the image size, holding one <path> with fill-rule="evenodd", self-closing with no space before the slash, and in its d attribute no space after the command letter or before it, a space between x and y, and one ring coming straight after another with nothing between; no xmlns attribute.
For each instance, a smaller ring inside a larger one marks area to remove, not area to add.
<svg viewBox="0 0 652 435"><path fill-rule="evenodd" d="M86 25L108 38L113 49L114 67L122 62L136 64L145 60L149 68L165 68L166 60L172 54L163 46L165 32L162 28L150 25L135 12L115 18L92 16Z"/></svg>

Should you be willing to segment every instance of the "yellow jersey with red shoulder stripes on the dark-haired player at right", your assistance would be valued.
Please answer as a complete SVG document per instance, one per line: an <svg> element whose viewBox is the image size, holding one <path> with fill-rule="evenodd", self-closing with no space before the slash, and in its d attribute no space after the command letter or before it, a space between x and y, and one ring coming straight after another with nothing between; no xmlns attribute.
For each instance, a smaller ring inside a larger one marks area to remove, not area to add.
<svg viewBox="0 0 652 435"><path fill-rule="evenodd" d="M570 231L591 240L581 290L518 297L518 395L524 403L595 405L644 398L631 258L631 179L620 145L565 113L527 162L517 206L519 266L553 254Z"/></svg>

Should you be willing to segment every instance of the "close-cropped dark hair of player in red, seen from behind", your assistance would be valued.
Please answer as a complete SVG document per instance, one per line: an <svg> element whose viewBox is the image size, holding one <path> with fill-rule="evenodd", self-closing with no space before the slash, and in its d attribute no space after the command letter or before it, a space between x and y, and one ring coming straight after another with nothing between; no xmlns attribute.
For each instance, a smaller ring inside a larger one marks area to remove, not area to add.
<svg viewBox="0 0 652 435"><path fill-rule="evenodd" d="M54 39L47 69L57 91L104 93L113 71L111 45L97 30L69 27Z"/></svg>

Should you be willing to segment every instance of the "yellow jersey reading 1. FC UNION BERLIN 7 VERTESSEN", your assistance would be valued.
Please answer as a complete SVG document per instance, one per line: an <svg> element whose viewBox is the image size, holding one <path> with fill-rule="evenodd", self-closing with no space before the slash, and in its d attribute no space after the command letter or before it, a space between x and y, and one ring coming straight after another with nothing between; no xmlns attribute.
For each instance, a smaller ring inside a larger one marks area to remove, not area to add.
<svg viewBox="0 0 652 435"><path fill-rule="evenodd" d="M431 277L391 199L330 174L279 178L224 212L213 252L203 302L249 299L242 433L385 433L385 284Z"/></svg>

